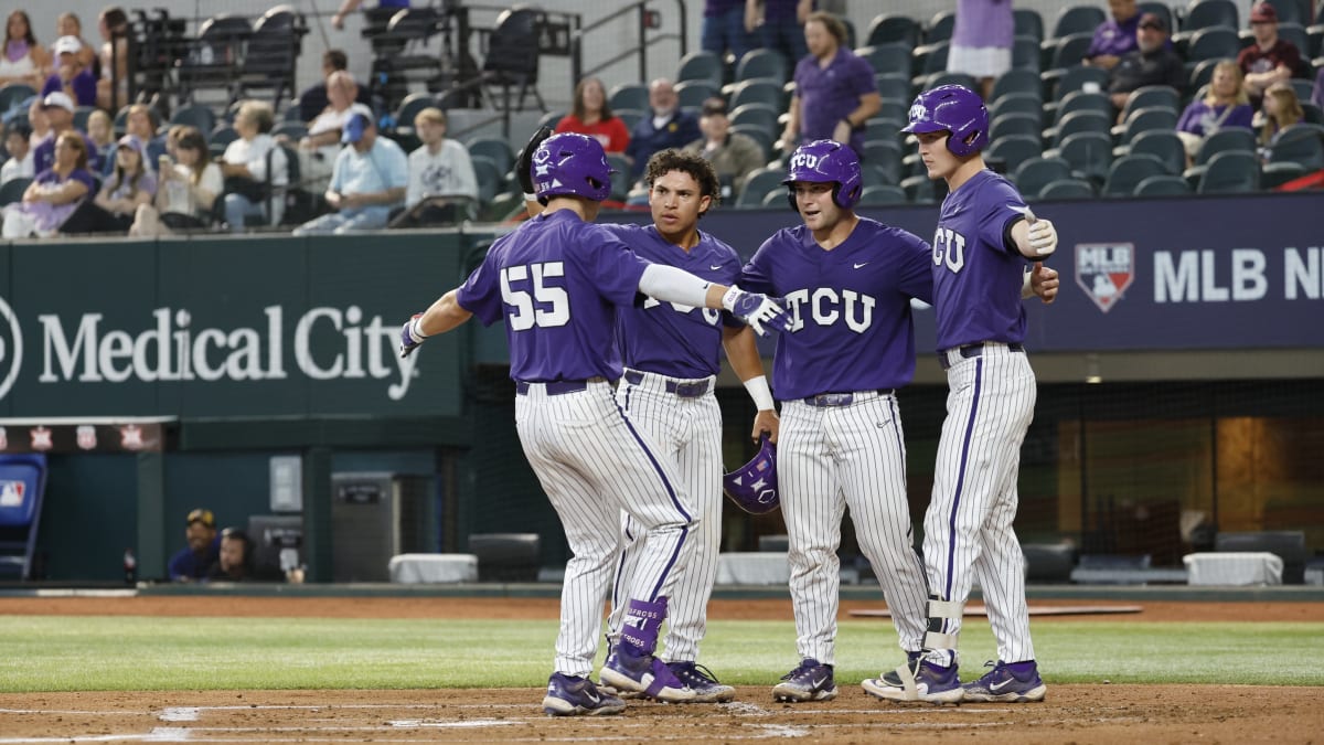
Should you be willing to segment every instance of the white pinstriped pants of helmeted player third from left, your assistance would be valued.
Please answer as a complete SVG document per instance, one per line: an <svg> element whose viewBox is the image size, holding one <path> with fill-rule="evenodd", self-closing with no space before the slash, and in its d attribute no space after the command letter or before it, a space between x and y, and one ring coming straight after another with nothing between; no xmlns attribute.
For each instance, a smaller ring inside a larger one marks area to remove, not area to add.
<svg viewBox="0 0 1324 745"><path fill-rule="evenodd" d="M850 406L784 402L777 484L790 540L790 597L801 658L835 664L841 521L849 508L907 651L920 648L924 569L906 500L906 445L894 395L857 394Z"/></svg>

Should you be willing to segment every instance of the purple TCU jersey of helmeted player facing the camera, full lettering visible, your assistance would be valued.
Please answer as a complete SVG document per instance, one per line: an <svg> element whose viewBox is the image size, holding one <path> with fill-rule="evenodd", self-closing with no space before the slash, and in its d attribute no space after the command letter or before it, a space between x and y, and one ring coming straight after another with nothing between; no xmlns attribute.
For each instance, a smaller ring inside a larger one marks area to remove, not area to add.
<svg viewBox="0 0 1324 745"><path fill-rule="evenodd" d="M911 298L932 301L929 248L918 236L861 217L824 251L804 225L784 228L745 264L740 288L786 300L777 337L779 399L899 388L915 374Z"/></svg>

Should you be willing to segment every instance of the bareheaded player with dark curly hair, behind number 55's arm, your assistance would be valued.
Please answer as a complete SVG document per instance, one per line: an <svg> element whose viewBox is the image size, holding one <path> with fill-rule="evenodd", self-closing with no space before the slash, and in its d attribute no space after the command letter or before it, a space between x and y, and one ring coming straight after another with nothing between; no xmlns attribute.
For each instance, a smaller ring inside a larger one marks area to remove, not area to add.
<svg viewBox="0 0 1324 745"><path fill-rule="evenodd" d="M735 282L740 276L735 249L698 225L720 194L712 164L698 155L663 150L649 159L645 183L653 224L604 227L649 261L679 266L715 282ZM728 314L649 298L620 309L616 330L625 358L616 400L675 463L685 493L700 516L694 557L677 579L669 604L667 665L695 692L695 701L730 701L735 688L695 664L722 542L722 411L714 395L719 347L726 347L732 369L757 406L755 439L769 432L776 441L779 422L772 391L753 331ZM629 514L622 514L621 533L609 634L621 626L621 593L641 557L638 530Z"/></svg>

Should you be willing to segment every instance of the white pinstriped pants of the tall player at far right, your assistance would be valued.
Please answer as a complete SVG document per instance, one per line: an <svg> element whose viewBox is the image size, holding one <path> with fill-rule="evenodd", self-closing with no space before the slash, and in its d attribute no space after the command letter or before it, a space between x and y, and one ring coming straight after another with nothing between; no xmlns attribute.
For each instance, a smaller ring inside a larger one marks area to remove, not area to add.
<svg viewBox="0 0 1324 745"><path fill-rule="evenodd" d="M1033 660L1025 604L1025 557L1012 529L1018 502L1021 443L1034 416L1037 387L1030 361L1005 345L982 357L955 355L937 447L933 497L924 518L924 558L932 587L964 601L973 579L998 643L998 659ZM943 631L960 634L961 619ZM947 664L956 651L941 651Z"/></svg>

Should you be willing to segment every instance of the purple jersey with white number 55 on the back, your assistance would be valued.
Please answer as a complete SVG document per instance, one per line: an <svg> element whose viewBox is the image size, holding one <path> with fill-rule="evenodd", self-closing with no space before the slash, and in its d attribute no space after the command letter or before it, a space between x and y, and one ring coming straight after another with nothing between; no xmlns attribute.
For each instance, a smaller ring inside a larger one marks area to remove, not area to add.
<svg viewBox="0 0 1324 745"><path fill-rule="evenodd" d="M455 300L483 325L504 317L511 378L614 380L614 306L634 301L645 268L601 225L557 209L493 244Z"/></svg>

